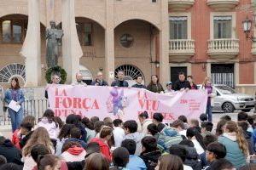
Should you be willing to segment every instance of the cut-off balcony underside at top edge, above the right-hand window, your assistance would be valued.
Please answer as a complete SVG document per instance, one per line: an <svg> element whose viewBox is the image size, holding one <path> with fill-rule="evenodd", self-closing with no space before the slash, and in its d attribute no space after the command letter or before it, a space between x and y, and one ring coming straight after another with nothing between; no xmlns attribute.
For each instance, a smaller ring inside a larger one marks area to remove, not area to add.
<svg viewBox="0 0 256 170"><path fill-rule="evenodd" d="M207 5L216 11L230 11L238 3L239 0L207 0Z"/></svg>

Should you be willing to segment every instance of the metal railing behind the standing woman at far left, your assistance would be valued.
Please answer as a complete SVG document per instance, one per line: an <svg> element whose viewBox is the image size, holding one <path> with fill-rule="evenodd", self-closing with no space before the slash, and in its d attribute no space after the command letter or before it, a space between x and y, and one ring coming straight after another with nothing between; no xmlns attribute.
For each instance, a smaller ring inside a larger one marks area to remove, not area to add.
<svg viewBox="0 0 256 170"><path fill-rule="evenodd" d="M44 111L49 108L48 100L47 99L29 99L25 100L22 103L24 116L34 116L36 118L36 122L38 119L43 116ZM10 118L8 111L3 112L0 114L0 125L10 125Z"/></svg>

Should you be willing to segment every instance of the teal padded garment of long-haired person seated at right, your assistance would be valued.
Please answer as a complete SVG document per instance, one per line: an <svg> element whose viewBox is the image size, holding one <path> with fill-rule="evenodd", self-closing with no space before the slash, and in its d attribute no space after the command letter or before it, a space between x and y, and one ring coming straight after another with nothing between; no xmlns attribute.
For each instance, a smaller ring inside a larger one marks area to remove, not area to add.
<svg viewBox="0 0 256 170"><path fill-rule="evenodd" d="M246 165L246 156L242 153L236 140L220 136L218 137L218 142L226 147L227 155L225 159L230 161L234 167L239 168Z"/></svg>

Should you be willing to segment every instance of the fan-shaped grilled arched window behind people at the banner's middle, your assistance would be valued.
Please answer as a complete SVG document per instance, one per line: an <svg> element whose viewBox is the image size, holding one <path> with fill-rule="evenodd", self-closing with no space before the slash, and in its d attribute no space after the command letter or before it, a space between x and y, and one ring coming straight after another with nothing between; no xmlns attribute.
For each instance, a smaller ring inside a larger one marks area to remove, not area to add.
<svg viewBox="0 0 256 170"><path fill-rule="evenodd" d="M134 79L136 77L140 76L143 77L143 82L145 82L145 77L143 75L143 71L141 71L137 66L134 65L120 65L118 68L114 71L114 76L117 78L117 74L119 71L125 72L125 80L129 82L129 86L135 84L136 82Z"/></svg>

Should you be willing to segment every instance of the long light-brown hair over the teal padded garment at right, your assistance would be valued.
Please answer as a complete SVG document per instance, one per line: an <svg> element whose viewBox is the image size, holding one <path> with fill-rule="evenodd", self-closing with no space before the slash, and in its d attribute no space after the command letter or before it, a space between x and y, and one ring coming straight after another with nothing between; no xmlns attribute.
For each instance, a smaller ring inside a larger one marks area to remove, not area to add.
<svg viewBox="0 0 256 170"><path fill-rule="evenodd" d="M229 130L230 133L236 133L236 139L239 145L239 148L242 150L244 155L248 154L248 144L247 140L244 138L244 134L242 132L241 127L238 127L236 122L229 121L225 124L226 129Z"/></svg>

